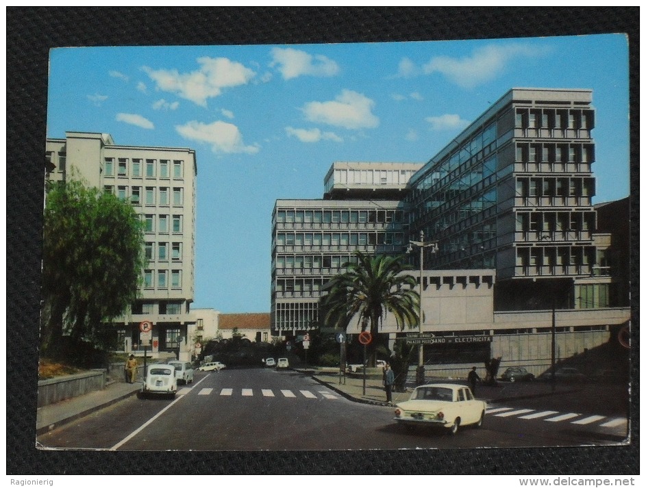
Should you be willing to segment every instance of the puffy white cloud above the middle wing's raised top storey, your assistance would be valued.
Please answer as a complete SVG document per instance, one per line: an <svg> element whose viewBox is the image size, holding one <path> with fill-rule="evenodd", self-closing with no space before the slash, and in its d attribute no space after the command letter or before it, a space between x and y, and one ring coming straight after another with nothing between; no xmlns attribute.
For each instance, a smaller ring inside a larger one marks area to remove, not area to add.
<svg viewBox="0 0 646 488"><path fill-rule="evenodd" d="M379 117L371 110L375 102L361 93L343 90L334 101L308 102L303 106L307 120L345 129L371 129L379 125Z"/></svg>

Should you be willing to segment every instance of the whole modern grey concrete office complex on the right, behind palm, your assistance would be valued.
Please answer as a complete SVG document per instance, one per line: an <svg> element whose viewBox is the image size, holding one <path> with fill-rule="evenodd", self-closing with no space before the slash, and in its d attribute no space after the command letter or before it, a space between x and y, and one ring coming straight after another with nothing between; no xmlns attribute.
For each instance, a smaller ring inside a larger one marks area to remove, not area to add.
<svg viewBox="0 0 646 488"><path fill-rule="evenodd" d="M513 88L426 164L334 163L323 199L276 202L273 333L325 326L321 290L353 253L401 255L423 233L422 332L517 363L545 364L552 329L560 357L601 344L630 309L597 227L594 127L591 90Z"/></svg>

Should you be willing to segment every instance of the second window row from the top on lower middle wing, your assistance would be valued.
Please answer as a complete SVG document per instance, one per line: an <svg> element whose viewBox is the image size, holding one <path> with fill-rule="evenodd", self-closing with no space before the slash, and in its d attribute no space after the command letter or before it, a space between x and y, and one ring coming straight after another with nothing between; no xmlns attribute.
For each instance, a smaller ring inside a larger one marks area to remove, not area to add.
<svg viewBox="0 0 646 488"><path fill-rule="evenodd" d="M276 235L278 246L366 246L403 244L403 232L283 233Z"/></svg>

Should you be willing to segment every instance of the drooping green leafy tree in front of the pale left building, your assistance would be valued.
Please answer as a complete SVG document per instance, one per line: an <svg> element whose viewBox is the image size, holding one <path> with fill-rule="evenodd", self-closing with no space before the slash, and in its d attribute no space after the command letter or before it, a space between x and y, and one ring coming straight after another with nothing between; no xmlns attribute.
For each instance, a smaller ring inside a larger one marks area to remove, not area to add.
<svg viewBox="0 0 646 488"><path fill-rule="evenodd" d="M143 243L143 225L130 203L75 180L51 185L42 248L45 355L69 354L70 344L108 346L113 334L106 323L138 294Z"/></svg>

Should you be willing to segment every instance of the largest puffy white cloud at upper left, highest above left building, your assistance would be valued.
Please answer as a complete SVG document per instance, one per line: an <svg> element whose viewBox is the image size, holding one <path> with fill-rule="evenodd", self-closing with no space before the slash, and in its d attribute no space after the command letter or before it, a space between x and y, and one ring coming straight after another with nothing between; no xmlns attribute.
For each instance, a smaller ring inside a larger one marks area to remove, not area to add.
<svg viewBox="0 0 646 488"><path fill-rule="evenodd" d="M223 88L246 85L256 73L226 57L199 57L199 70L179 73L177 70L153 70L144 66L157 89L206 107L206 101L218 97Z"/></svg>

